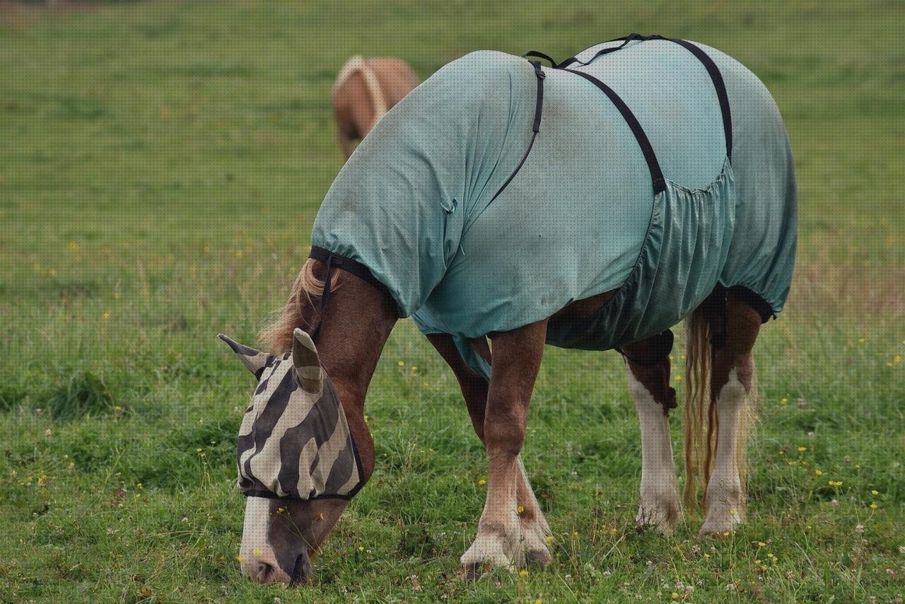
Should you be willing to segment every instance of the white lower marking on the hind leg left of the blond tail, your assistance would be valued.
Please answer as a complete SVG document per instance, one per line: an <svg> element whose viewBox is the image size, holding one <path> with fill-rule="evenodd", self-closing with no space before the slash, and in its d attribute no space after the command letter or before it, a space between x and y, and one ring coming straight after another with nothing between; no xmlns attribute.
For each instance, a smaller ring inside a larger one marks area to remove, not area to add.
<svg viewBox="0 0 905 604"><path fill-rule="evenodd" d="M639 526L651 525L671 534L680 518L679 489L672 460L670 422L663 406L626 366L629 393L641 423L641 505Z"/></svg>

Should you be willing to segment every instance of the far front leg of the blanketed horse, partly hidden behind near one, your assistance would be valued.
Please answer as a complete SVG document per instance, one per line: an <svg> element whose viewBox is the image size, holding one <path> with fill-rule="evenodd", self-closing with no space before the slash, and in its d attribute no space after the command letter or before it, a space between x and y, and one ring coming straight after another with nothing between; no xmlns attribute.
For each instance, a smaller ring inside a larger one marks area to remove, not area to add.
<svg viewBox="0 0 905 604"><path fill-rule="evenodd" d="M433 347L440 353L443 360L450 366L452 373L462 388L462 397L465 398L465 405L468 407L468 414L472 418L472 426L481 443L484 442L484 413L487 407L487 380L479 373L472 370L462 360L459 350L456 349L452 337L445 334L432 334L427 336ZM481 341L481 345L475 346L481 356L488 362L491 361L490 350L487 349L486 340ZM546 566L550 561L550 551L547 547L547 538L550 534L550 527L544 513L540 510L538 499L531 490L531 484L528 475L525 472L525 465L521 462L521 455L517 457L519 465L519 475L517 476L517 492L516 502L522 510L519 514L519 524L522 535L522 547L526 551L529 561L537 562L541 566Z"/></svg>

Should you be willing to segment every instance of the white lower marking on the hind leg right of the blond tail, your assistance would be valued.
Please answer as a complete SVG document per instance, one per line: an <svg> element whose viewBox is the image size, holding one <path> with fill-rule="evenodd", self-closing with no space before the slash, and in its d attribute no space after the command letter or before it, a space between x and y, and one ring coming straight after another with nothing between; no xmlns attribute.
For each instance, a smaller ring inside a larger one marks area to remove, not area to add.
<svg viewBox="0 0 905 604"><path fill-rule="evenodd" d="M701 534L731 531L742 521L744 506L736 455L738 446L744 445L738 442L738 436L747 396L745 387L738 380L738 371L732 369L729 381L717 397L719 430L716 462L707 485L707 518L700 529Z"/></svg>

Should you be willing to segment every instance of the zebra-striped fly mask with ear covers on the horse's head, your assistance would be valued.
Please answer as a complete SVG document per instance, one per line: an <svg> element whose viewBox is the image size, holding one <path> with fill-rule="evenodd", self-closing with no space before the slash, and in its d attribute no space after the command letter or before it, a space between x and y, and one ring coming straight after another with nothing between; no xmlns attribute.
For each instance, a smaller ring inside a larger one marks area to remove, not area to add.
<svg viewBox="0 0 905 604"><path fill-rule="evenodd" d="M271 499L350 499L364 472L336 388L310 336L281 357L224 340L258 379L239 429L237 486Z"/></svg>

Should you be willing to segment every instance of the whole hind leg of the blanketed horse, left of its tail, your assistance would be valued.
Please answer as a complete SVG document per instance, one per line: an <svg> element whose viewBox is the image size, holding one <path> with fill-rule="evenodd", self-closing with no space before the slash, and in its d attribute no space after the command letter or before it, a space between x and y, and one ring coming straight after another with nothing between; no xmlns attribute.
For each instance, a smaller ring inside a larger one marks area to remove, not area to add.
<svg viewBox="0 0 905 604"><path fill-rule="evenodd" d="M662 336L623 348L629 393L641 424L641 504L638 526L653 526L672 534L681 511L675 464L672 459L669 409L675 406L670 387L672 337L663 347Z"/></svg>

